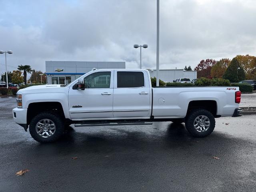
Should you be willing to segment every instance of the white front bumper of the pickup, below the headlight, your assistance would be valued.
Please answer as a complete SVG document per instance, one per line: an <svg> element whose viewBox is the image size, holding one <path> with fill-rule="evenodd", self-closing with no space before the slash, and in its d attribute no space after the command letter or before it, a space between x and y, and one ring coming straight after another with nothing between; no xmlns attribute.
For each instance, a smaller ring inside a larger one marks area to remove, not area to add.
<svg viewBox="0 0 256 192"><path fill-rule="evenodd" d="M14 122L22 126L27 131L27 108L14 108L12 110L12 117Z"/></svg>

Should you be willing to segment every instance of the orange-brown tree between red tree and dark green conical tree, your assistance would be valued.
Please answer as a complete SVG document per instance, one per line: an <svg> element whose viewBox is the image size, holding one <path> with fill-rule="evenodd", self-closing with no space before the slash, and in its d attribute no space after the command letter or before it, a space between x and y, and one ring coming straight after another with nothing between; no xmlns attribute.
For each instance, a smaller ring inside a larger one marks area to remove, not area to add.
<svg viewBox="0 0 256 192"><path fill-rule="evenodd" d="M216 64L212 66L211 76L213 78L222 78L229 64L230 64L230 59L228 58L223 58L217 61Z"/></svg>

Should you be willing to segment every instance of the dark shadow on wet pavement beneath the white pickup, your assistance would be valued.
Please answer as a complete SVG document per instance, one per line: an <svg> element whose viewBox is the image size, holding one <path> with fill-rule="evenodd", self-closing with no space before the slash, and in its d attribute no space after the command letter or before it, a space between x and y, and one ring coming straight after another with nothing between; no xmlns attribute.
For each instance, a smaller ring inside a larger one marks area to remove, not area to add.
<svg viewBox="0 0 256 192"><path fill-rule="evenodd" d="M145 150L154 148L190 148L198 147L200 144L208 146L208 148L221 149L221 144L226 145L226 140L235 140L228 134L214 131L206 138L193 138L186 130L184 124L170 123L162 128L116 128L108 127L104 129L92 128L90 131L76 131L71 126L68 128L64 136L54 144L38 144L40 148L58 148L62 146L65 151L79 152L82 150L115 150L120 148ZM216 143L219 143L216 148ZM81 148L82 147L82 148Z"/></svg>

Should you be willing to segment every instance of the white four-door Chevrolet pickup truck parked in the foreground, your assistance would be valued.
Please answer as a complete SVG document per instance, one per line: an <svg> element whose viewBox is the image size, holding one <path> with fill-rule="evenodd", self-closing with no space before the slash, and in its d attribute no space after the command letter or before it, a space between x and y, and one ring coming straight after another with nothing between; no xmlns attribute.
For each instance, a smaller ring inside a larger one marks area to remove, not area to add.
<svg viewBox="0 0 256 192"><path fill-rule="evenodd" d="M93 70L68 85L18 91L14 121L38 142L57 140L66 126L185 122L192 136L212 133L215 119L241 116L238 87L152 87L148 70Z"/></svg>

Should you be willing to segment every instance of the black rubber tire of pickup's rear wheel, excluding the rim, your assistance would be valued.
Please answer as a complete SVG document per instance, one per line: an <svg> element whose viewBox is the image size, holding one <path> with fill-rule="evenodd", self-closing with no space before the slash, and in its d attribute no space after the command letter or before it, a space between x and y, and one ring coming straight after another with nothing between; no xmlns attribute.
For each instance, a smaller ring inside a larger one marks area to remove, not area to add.
<svg viewBox="0 0 256 192"><path fill-rule="evenodd" d="M206 130L204 132L198 132L196 130L196 128L194 128L194 120L200 115L207 116L210 120L210 127L208 128L208 130ZM214 118L213 114L208 110L195 109L195 110L192 110L188 114L188 116L186 117L185 126L186 126L186 129L188 130L188 132L192 136L194 136L194 137L206 137L206 136L210 135L213 132L214 128L215 128L215 118Z"/></svg>

